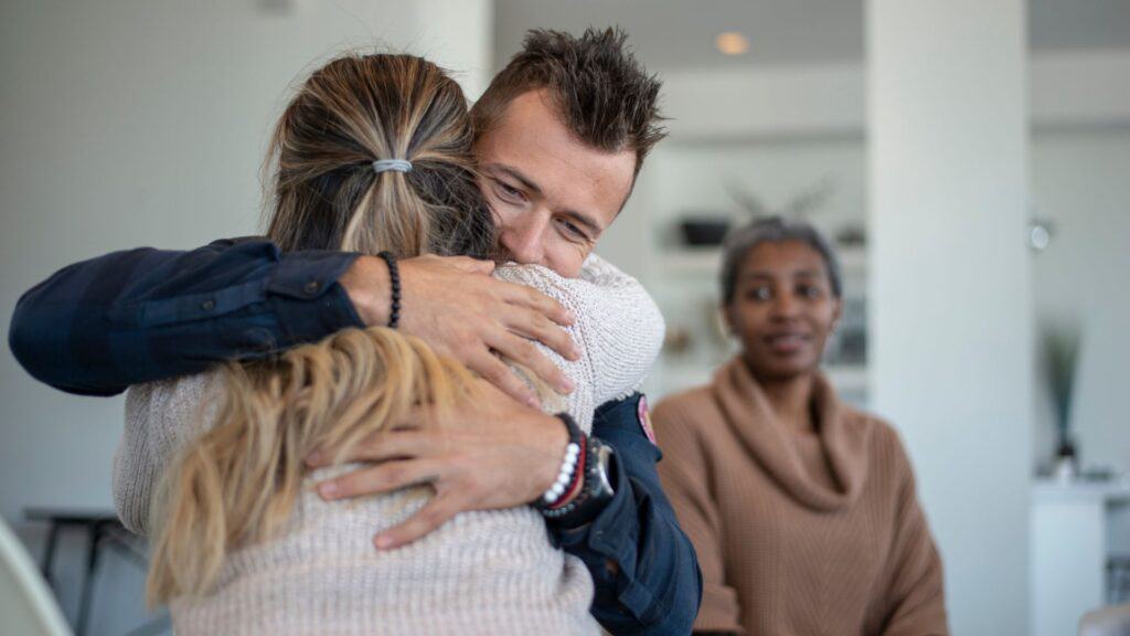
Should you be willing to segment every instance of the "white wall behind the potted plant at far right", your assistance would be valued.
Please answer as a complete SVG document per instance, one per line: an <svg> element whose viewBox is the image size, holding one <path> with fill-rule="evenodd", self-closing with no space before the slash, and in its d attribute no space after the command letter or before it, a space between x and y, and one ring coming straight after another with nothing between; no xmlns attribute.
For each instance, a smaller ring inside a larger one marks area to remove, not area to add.
<svg viewBox="0 0 1130 636"><path fill-rule="evenodd" d="M1119 471L1130 471L1128 175L1130 126L1034 136L1033 205L1054 231L1048 250L1033 259L1037 321L1081 330L1072 431L1085 466ZM1046 390L1040 396L1034 453L1046 461L1054 420Z"/></svg>

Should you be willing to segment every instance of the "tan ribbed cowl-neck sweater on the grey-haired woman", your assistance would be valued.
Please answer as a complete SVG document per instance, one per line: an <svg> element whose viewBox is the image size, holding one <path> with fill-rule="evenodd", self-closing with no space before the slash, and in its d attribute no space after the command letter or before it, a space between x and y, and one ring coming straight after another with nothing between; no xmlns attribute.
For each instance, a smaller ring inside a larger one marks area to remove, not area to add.
<svg viewBox="0 0 1130 636"><path fill-rule="evenodd" d="M740 358L652 416L702 567L695 630L948 634L941 560L898 436L824 377L815 432L781 422Z"/></svg>

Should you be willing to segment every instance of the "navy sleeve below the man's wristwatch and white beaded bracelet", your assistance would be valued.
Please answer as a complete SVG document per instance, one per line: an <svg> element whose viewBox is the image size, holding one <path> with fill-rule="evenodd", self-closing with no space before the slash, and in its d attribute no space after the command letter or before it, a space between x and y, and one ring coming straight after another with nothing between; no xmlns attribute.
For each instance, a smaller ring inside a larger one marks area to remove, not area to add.
<svg viewBox="0 0 1130 636"><path fill-rule="evenodd" d="M616 496L591 524L554 533L592 573L592 616L605 629L615 635L689 634L702 601L702 573L660 485L655 463L662 454L640 424L641 397L609 402L593 419L592 435L615 450L610 476Z"/></svg>

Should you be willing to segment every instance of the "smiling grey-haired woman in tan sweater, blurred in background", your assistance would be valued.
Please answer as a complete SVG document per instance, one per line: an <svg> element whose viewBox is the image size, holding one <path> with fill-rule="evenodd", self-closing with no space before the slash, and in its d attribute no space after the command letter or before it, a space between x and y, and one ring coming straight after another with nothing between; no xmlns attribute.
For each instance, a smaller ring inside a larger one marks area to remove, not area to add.
<svg viewBox="0 0 1130 636"><path fill-rule="evenodd" d="M739 229L722 299L741 353L654 412L660 474L703 571L695 633L947 634L898 436L819 369L842 311L827 242L780 218Z"/></svg>

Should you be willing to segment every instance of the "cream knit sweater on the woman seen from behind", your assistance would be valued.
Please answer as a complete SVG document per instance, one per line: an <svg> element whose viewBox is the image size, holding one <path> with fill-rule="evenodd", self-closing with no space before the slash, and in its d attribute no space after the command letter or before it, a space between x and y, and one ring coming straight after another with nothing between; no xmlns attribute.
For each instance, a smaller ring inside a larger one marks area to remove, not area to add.
<svg viewBox="0 0 1130 636"><path fill-rule="evenodd" d="M602 259L580 278L503 267L499 278L560 301L576 316L577 362L542 351L576 390L567 411L585 430L593 410L635 390L659 353L663 321L646 291ZM211 420L208 373L133 387L114 462L114 501L145 533L151 493L176 450ZM314 483L348 466L324 469ZM458 515L389 552L372 536L419 509L419 489L327 502L307 489L279 539L234 552L217 590L172 604L176 633L218 634L597 634L592 582L580 559L549 543L541 516L522 506Z"/></svg>

